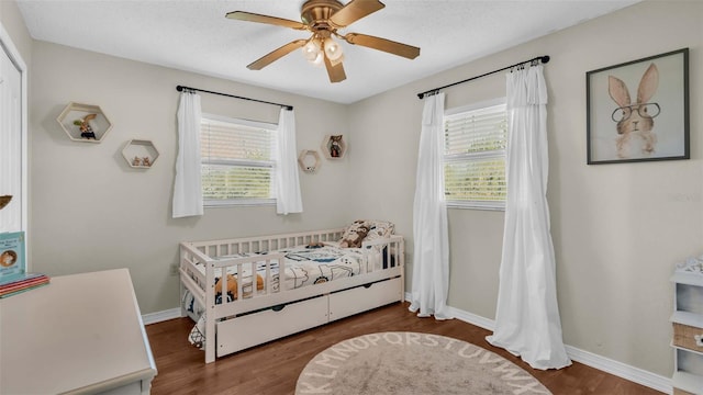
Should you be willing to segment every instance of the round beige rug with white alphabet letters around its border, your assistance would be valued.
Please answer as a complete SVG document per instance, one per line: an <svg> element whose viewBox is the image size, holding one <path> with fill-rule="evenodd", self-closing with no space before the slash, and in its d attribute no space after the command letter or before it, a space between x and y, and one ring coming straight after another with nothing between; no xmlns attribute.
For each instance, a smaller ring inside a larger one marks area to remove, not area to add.
<svg viewBox="0 0 703 395"><path fill-rule="evenodd" d="M304 394L551 394L506 359L439 335L381 332L338 342L298 377Z"/></svg>

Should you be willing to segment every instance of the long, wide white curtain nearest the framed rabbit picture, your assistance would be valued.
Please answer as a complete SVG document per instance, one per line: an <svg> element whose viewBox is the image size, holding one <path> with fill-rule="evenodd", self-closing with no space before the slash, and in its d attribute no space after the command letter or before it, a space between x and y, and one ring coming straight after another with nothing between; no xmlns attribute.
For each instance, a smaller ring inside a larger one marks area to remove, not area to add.
<svg viewBox="0 0 703 395"><path fill-rule="evenodd" d="M547 204L547 86L543 66L506 76L507 202L495 329L487 340L535 369L571 364L561 337Z"/></svg>

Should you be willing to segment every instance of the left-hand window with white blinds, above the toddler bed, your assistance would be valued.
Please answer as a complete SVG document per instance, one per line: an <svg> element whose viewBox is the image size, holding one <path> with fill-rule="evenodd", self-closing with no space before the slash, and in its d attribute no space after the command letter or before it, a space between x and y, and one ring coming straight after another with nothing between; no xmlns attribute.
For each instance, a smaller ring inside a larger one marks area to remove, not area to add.
<svg viewBox="0 0 703 395"><path fill-rule="evenodd" d="M203 114L200 131L205 206L276 203L277 125Z"/></svg>

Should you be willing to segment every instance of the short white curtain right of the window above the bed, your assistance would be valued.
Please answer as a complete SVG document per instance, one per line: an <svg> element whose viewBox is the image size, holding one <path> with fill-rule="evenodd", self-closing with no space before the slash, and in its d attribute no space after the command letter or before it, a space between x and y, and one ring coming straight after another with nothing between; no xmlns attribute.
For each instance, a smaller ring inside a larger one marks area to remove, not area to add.
<svg viewBox="0 0 703 395"><path fill-rule="evenodd" d="M298 177L295 149L295 114L281 109L278 117L278 171L276 172L276 212L278 214L302 213L303 200Z"/></svg>

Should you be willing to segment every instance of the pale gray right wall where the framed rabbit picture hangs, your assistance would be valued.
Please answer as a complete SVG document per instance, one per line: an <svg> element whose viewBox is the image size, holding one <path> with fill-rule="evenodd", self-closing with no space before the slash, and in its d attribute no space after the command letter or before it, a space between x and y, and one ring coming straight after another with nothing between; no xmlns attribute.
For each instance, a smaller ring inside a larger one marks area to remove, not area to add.
<svg viewBox="0 0 703 395"><path fill-rule="evenodd" d="M415 94L550 55L548 200L565 342L669 376L669 276L677 262L703 253L702 26L701 2L639 3L352 105L355 184L391 192L358 200L354 211L403 218L399 233L411 235ZM585 165L585 72L682 47L691 50L692 158ZM446 106L502 97L504 84L499 74L449 88ZM494 318L502 223L501 212L449 210L449 305Z"/></svg>

